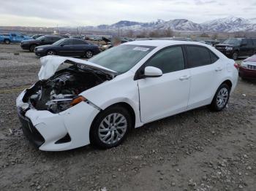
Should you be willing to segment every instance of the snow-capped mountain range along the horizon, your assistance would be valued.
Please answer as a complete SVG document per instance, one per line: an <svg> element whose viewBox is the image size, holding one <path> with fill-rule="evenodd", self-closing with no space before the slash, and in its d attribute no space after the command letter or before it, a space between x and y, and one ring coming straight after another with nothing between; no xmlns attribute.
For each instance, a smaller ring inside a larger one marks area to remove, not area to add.
<svg viewBox="0 0 256 191"><path fill-rule="evenodd" d="M256 31L256 18L244 19L242 17L225 17L209 20L205 23L194 23L187 19L157 20L151 23L141 23L129 20L121 20L113 25L101 25L95 29L121 29L121 30L161 30L170 28L173 31L203 31L203 32L236 32Z"/></svg>

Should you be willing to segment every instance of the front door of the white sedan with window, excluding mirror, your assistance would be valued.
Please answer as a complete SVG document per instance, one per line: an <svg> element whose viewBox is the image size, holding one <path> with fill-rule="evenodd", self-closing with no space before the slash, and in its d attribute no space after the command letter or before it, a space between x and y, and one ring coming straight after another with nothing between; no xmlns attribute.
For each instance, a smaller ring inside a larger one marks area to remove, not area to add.
<svg viewBox="0 0 256 191"><path fill-rule="evenodd" d="M163 75L138 79L142 122L184 112L189 100L190 74L189 69L185 69L182 47L160 50L146 62L146 66L161 69Z"/></svg>

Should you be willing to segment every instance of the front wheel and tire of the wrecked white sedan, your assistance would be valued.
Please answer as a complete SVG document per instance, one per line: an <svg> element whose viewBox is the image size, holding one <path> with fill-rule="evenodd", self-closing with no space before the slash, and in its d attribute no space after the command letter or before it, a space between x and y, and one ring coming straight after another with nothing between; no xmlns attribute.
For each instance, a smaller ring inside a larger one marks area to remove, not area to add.
<svg viewBox="0 0 256 191"><path fill-rule="evenodd" d="M109 149L117 147L132 128L132 117L127 109L121 106L112 106L100 112L91 125L91 144Z"/></svg>

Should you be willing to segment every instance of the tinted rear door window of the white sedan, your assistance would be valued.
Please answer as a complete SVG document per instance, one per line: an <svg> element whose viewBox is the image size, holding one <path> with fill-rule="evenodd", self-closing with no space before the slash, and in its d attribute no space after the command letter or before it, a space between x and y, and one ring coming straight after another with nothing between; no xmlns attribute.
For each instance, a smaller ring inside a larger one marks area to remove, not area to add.
<svg viewBox="0 0 256 191"><path fill-rule="evenodd" d="M205 47L187 46L188 68L211 64L211 57Z"/></svg>

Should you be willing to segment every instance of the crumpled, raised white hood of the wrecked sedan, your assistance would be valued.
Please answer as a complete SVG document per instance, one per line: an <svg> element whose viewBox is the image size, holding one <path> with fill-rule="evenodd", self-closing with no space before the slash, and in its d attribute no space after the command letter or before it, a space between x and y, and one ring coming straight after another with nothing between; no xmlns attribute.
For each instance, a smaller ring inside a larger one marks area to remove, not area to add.
<svg viewBox="0 0 256 191"><path fill-rule="evenodd" d="M78 66L80 69L91 69L95 71L101 71L102 73L108 74L112 77L116 76L117 72L105 68L103 66L99 66L95 63L91 63L89 61L83 61L78 58L71 58L71 57L63 57L57 55L47 55L40 58L41 61L41 69L39 70L38 77L39 80L48 79L55 74L59 66L64 63L73 63Z"/></svg>

